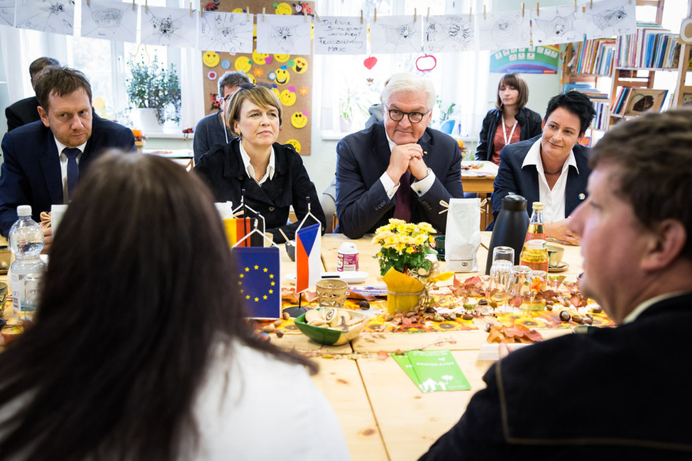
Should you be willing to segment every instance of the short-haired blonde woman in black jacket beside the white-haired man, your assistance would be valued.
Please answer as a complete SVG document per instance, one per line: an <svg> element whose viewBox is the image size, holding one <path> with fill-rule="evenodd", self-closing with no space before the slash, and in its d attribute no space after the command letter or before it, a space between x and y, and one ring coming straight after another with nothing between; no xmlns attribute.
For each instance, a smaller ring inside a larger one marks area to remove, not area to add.
<svg viewBox="0 0 692 461"><path fill-rule="evenodd" d="M226 107L226 120L238 137L226 145L216 144L202 156L194 171L212 188L216 201L245 204L265 219L265 230L275 242L294 238L300 221L310 212L317 217L322 233L326 219L319 206L314 184L300 155L292 145L276 143L281 126L281 103L264 84L241 83ZM290 206L298 221L287 224ZM314 224L309 218L307 224Z"/></svg>

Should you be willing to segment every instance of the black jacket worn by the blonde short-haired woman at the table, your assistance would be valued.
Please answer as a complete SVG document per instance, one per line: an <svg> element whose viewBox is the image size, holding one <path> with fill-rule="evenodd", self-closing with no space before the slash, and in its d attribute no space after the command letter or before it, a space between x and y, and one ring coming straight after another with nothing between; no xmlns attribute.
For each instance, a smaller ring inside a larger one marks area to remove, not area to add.
<svg viewBox="0 0 692 461"><path fill-rule="evenodd" d="M240 138L234 138L227 145L213 145L194 167L194 171L209 184L216 201L231 201L234 207L238 206L245 189L245 203L263 216L265 230L273 233L274 241L280 243L284 238L278 229L283 230L288 238L295 238L300 221L307 216L305 197L309 197L310 212L319 219L324 233L326 219L319 206L317 191L292 145L274 143L274 177L260 186L248 177L239 143ZM298 221L286 224L291 205ZM314 221L308 220L307 223Z"/></svg>

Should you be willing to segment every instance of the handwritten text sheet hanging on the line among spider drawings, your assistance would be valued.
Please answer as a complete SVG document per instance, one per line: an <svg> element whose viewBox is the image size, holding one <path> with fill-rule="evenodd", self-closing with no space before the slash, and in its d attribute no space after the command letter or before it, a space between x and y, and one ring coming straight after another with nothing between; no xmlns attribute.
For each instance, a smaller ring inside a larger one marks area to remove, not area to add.
<svg viewBox="0 0 692 461"><path fill-rule="evenodd" d="M366 54L367 24L360 17L325 16L314 21L316 55Z"/></svg>

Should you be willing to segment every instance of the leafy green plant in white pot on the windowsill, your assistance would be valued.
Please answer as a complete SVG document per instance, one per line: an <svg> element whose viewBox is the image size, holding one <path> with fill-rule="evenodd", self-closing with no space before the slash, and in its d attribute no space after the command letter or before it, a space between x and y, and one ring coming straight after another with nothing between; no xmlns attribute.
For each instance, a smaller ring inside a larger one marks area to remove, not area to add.
<svg viewBox="0 0 692 461"><path fill-rule="evenodd" d="M158 124L170 120L180 121L180 79L174 65L166 68L154 57L151 62L135 60L128 62L131 77L125 87L130 109L148 109L155 113ZM138 126L137 128L153 128Z"/></svg>

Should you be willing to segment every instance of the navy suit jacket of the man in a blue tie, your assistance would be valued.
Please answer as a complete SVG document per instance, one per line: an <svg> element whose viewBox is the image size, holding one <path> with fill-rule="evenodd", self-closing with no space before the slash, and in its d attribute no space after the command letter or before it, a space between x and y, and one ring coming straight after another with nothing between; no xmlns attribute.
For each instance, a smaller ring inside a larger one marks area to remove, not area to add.
<svg viewBox="0 0 692 461"><path fill-rule="evenodd" d="M135 150L132 131L94 113L92 135L79 158L79 175L108 148ZM2 138L4 163L0 176L0 230L7 235L17 220L17 206L31 205L34 221L41 211L62 204L62 172L55 136L42 121L9 131Z"/></svg>

